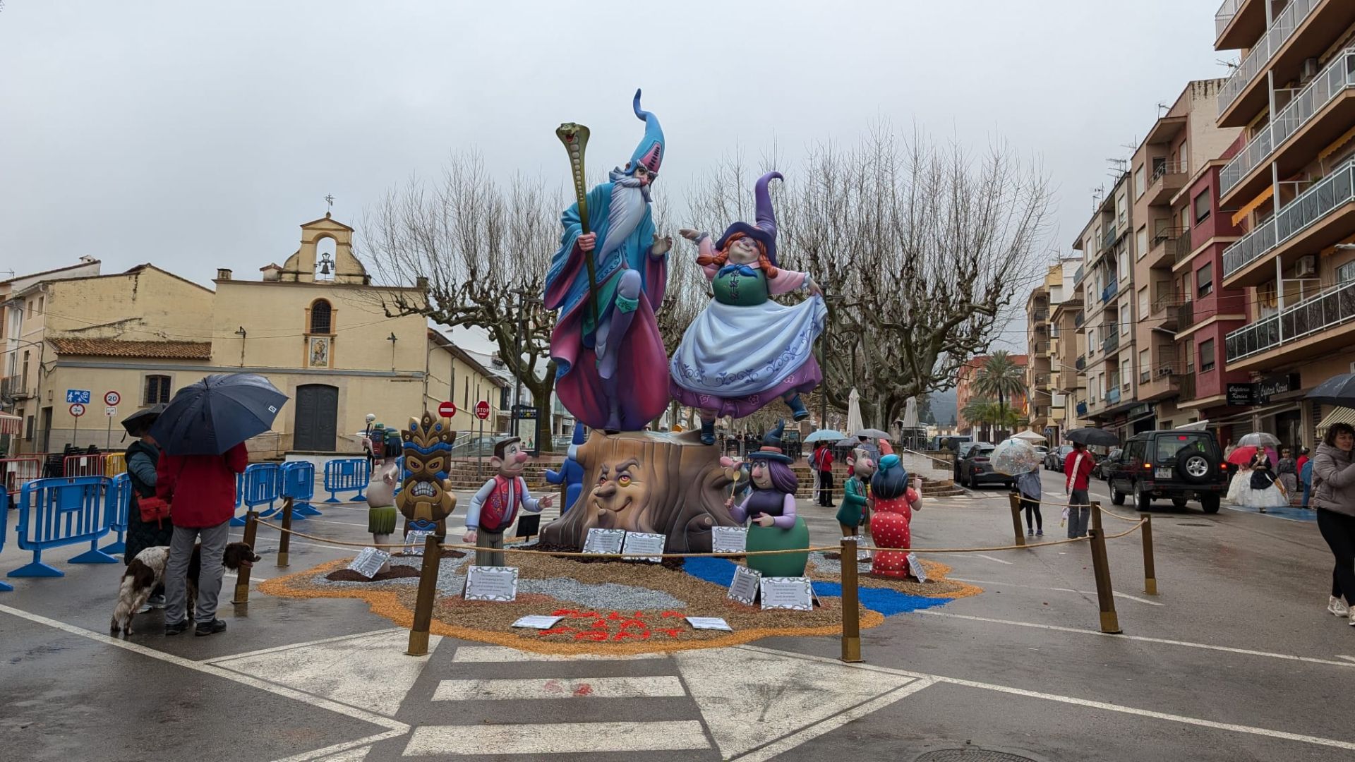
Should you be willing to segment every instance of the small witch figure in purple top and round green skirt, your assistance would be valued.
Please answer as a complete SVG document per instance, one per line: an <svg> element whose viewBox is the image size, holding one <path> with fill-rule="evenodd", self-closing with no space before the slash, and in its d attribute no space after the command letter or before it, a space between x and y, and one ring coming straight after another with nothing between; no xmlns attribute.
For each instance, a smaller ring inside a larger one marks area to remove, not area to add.
<svg viewBox="0 0 1355 762"><path fill-rule="evenodd" d="M795 514L799 479L790 468L790 456L780 450L780 437L785 433L786 422L776 422L776 428L763 438L762 449L748 453L748 460L753 464L753 488L743 502L729 508L738 523L749 521L749 550L806 549L805 553L748 556L748 568L760 571L763 576L804 576L805 564L809 563L809 527Z"/></svg>

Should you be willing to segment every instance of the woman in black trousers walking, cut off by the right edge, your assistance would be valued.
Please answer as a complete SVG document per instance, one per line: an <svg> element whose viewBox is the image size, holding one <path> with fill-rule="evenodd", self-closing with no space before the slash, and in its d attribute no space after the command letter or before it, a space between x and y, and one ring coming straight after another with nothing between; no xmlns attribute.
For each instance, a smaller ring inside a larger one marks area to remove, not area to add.
<svg viewBox="0 0 1355 762"><path fill-rule="evenodd" d="M1348 617L1355 606L1355 427L1333 423L1313 457L1317 529L1336 557L1327 610ZM1341 598L1346 598L1343 602ZM1355 626L1355 618L1351 620Z"/></svg>

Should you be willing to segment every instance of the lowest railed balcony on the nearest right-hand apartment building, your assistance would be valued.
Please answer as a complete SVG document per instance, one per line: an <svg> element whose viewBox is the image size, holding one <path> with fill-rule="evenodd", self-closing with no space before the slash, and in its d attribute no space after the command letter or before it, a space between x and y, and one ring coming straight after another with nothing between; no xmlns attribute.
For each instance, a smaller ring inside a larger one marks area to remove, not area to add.
<svg viewBox="0 0 1355 762"><path fill-rule="evenodd" d="M1224 339L1224 348L1229 370L1255 370L1278 359L1317 357L1352 342L1355 282L1348 282L1233 331Z"/></svg>

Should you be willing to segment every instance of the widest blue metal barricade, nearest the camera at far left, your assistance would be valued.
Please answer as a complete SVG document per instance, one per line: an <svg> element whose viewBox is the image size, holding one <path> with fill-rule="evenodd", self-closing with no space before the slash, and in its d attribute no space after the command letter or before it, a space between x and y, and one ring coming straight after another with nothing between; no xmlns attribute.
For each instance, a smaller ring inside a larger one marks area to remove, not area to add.
<svg viewBox="0 0 1355 762"><path fill-rule="evenodd" d="M118 563L99 549L99 540L112 526L106 499L111 481L103 476L77 476L24 484L19 494L16 536L19 548L33 552L33 561L14 569L9 576L65 576L65 572L42 563L42 552L81 542L88 542L89 549L70 559L72 564Z"/></svg>

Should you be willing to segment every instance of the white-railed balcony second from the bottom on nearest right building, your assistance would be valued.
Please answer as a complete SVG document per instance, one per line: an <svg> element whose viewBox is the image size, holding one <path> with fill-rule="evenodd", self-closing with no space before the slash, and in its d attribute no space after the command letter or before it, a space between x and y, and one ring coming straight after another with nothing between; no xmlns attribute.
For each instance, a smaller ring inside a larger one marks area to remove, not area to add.
<svg viewBox="0 0 1355 762"><path fill-rule="evenodd" d="M1271 254L1291 264L1301 252L1313 252L1344 240L1355 214L1355 160L1347 161L1279 210L1264 225L1224 249L1224 285L1257 286L1275 277L1266 266Z"/></svg>

